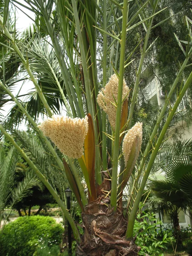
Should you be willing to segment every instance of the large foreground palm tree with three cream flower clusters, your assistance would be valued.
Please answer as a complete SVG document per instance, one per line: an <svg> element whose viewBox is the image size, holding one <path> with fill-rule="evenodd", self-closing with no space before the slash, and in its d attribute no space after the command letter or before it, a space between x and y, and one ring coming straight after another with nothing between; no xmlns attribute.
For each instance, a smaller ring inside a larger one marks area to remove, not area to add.
<svg viewBox="0 0 192 256"><path fill-rule="evenodd" d="M24 2L20 4L14 0L13 4L34 12L34 25L24 33L23 38L15 36L14 29L7 26L9 1L5 1L3 17L0 17L0 32L6 38L6 43L1 45L6 47L7 55L14 53L20 59L20 70L25 79L33 82L34 91L28 95L28 101L22 101L19 94L13 95L11 81L8 84L6 79L0 81L2 94L9 95L16 104L7 122L11 127L13 120L18 123L25 119L35 130L42 148L54 161L53 165L56 163L58 172L67 178L76 196L82 212L84 236L80 237L75 222L66 210L64 199L50 175L53 171L50 169L50 172L44 172L34 157L26 154L13 140L9 129L6 131L0 125L0 130L61 207L78 242L79 255L137 255L139 248L133 239L134 220L163 138L192 81L192 73L185 83L181 81L183 70L192 55L191 38L188 37L189 42L177 38L184 53L184 61L138 158L133 177L131 174L142 144L142 124L133 123L134 108L144 58L152 47L148 46L149 35L151 29L158 25L153 27L153 19L163 11L158 10L159 1ZM186 23L191 35L191 20L186 18ZM140 33L141 28L143 40L125 55L126 42L132 33ZM99 45L102 47L99 48ZM141 49L140 61L128 112L129 90L123 76L128 65L134 65L132 56L137 47ZM97 70L98 58L102 67L102 81L98 79L101 75ZM180 90L177 100L169 108L178 84ZM65 117L52 117L53 113L63 111ZM167 116L162 122L165 113ZM47 115L50 119L38 127L35 121L39 114ZM45 135L58 146L63 156ZM84 176L88 198L84 194L79 170ZM122 191L129 180L132 183L129 182L131 192L127 221L122 214Z"/></svg>

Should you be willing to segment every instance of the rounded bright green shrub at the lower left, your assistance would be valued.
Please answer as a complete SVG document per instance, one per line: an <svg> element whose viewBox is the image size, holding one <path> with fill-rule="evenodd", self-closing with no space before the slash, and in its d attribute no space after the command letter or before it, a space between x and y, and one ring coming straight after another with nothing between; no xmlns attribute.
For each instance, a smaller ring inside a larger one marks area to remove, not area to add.
<svg viewBox="0 0 192 256"><path fill-rule="evenodd" d="M17 218L0 232L0 255L32 256L38 244L49 241L49 247L60 244L63 228L51 217Z"/></svg>

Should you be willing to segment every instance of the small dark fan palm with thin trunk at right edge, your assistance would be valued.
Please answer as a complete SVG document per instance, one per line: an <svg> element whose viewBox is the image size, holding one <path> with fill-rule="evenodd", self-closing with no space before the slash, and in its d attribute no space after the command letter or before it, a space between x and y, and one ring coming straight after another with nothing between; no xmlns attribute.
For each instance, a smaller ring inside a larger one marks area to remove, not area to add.
<svg viewBox="0 0 192 256"><path fill-rule="evenodd" d="M173 160L166 169L165 176L149 182L154 195L150 204L157 211L168 215L173 224L175 239L182 245L178 214L192 209L192 159L191 155Z"/></svg>

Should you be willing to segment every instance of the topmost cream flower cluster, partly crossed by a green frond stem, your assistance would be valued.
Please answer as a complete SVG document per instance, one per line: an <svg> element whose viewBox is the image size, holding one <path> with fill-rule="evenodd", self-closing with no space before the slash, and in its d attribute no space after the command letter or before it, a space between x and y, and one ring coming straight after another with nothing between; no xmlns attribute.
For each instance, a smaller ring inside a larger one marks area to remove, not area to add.
<svg viewBox="0 0 192 256"><path fill-rule="evenodd" d="M116 74L113 74L108 83L105 85L105 88L102 88L97 96L99 107L108 114L109 122L114 130L116 120L116 107L113 104L116 105L115 100L117 102L118 84L119 79ZM129 88L123 79L122 99L124 99L126 95L128 98L128 92ZM113 102L113 104L111 102Z"/></svg>

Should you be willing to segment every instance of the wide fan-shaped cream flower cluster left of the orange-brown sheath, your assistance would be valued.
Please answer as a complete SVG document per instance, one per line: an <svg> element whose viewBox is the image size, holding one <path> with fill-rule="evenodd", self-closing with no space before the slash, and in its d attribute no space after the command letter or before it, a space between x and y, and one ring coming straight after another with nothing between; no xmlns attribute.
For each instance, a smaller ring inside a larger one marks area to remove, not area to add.
<svg viewBox="0 0 192 256"><path fill-rule="evenodd" d="M83 119L53 116L38 127L63 154L71 158L83 155L84 139L88 130L87 116Z"/></svg>

